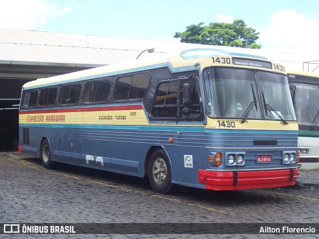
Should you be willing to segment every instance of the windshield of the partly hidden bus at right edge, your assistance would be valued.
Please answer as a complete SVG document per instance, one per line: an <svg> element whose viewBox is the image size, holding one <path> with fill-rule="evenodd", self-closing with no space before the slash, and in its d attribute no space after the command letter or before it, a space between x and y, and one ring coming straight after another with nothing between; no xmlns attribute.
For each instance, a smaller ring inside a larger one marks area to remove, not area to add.
<svg viewBox="0 0 319 239"><path fill-rule="evenodd" d="M293 102L295 113L300 125L312 125L319 111L319 88L317 85L305 83L292 83L294 87Z"/></svg>

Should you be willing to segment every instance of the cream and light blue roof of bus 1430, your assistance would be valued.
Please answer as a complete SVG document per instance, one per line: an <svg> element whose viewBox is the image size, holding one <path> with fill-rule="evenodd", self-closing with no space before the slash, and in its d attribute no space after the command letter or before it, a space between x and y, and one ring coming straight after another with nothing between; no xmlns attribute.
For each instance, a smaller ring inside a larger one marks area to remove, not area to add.
<svg viewBox="0 0 319 239"><path fill-rule="evenodd" d="M164 66L172 66L173 68L183 67L187 64L193 65L197 63L197 58L207 57L207 56L216 56L216 55L229 55L229 56L241 56L248 58L258 58L262 60L267 60L266 57L257 56L245 52L241 48L234 48L232 50L228 49L219 49L219 48L186 48L182 50L175 51L171 54L166 54L162 56L155 57L146 57L138 60L131 60L122 63L106 65L96 68L91 68L87 70L72 72L68 74L48 77L48 78L39 78L35 81L27 82L23 85L22 88L35 87L39 85L46 85L58 82L67 82L70 80L85 80L86 78L96 76L103 77L106 73L113 74L125 74L135 71L143 71L153 68L160 68ZM173 59L170 61L170 59ZM187 61L187 64L185 62Z"/></svg>

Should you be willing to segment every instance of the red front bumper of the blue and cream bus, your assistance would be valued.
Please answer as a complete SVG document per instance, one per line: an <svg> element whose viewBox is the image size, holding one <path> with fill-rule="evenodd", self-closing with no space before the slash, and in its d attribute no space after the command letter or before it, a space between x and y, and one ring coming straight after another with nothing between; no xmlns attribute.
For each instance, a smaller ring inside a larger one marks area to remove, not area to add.
<svg viewBox="0 0 319 239"><path fill-rule="evenodd" d="M198 170L198 181L210 190L273 188L295 185L297 175L297 168L224 172Z"/></svg>

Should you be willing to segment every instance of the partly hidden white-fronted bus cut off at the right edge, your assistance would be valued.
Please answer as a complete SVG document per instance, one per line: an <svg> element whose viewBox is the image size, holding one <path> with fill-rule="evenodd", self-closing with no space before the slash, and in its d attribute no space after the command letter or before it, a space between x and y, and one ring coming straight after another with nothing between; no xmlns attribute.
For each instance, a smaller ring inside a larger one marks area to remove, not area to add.
<svg viewBox="0 0 319 239"><path fill-rule="evenodd" d="M289 71L287 74L296 118L299 123L300 163L305 170L318 169L319 75L297 71Z"/></svg>

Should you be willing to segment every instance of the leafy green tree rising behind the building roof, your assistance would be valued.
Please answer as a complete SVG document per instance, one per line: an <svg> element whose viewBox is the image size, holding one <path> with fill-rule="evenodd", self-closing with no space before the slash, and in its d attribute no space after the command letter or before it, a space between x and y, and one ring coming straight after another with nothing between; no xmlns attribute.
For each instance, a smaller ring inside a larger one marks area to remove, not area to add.
<svg viewBox="0 0 319 239"><path fill-rule="evenodd" d="M244 20L234 20L233 23L211 22L208 26L204 22L192 24L184 32L176 32L174 37L185 43L260 49L261 44L256 43L258 35Z"/></svg>

